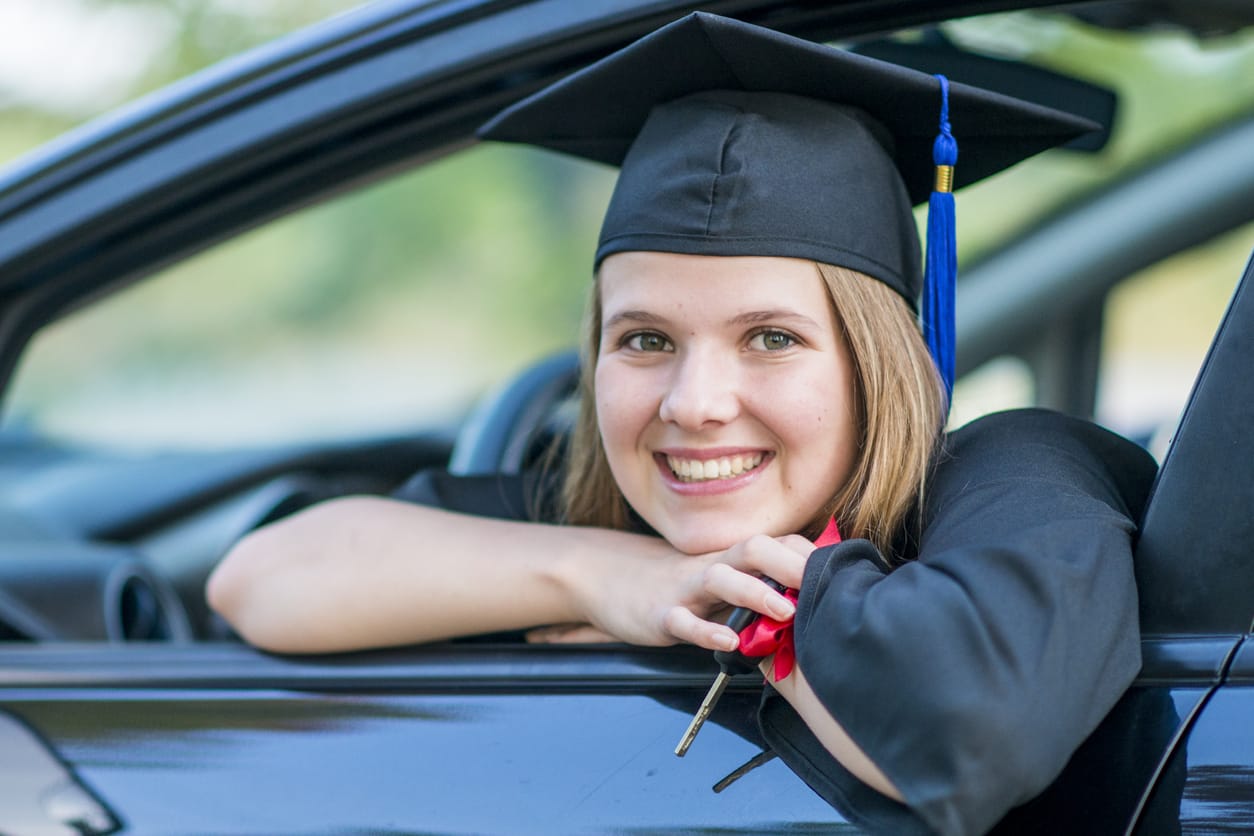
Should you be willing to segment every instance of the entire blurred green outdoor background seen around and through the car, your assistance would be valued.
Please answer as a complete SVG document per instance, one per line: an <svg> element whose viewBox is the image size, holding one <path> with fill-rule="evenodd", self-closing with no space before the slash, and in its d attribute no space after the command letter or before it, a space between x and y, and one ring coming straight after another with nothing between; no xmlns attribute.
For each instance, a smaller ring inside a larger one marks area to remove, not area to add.
<svg viewBox="0 0 1254 836"><path fill-rule="evenodd" d="M357 5L350 0L4 0L0 164L124 102ZM1120 94L1096 155L1047 154L959 196L969 262L1067 201L1254 112L1254 30L1115 33L1051 14L952 24L957 43ZM21 43L21 49L14 44ZM1254 150L1251 150L1254 153ZM45 330L4 424L87 444L234 446L451 425L494 381L574 342L613 173L477 147L281 218ZM1101 417L1174 417L1254 229L1120 288ZM1013 362L956 420L1031 400Z"/></svg>

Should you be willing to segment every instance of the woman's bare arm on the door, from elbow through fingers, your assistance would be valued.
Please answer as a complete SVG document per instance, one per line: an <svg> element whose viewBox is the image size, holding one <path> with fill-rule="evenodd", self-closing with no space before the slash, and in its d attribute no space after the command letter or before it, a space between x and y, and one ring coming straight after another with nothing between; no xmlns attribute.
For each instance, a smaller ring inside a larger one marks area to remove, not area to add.
<svg viewBox="0 0 1254 836"><path fill-rule="evenodd" d="M761 538L759 546L772 543ZM374 496L315 505L243 538L208 583L248 642L325 653L587 623L624 642L734 640L711 615L785 599L770 548L685 555L663 540L469 516ZM751 573L751 574L745 574ZM776 610L779 613L779 610Z"/></svg>

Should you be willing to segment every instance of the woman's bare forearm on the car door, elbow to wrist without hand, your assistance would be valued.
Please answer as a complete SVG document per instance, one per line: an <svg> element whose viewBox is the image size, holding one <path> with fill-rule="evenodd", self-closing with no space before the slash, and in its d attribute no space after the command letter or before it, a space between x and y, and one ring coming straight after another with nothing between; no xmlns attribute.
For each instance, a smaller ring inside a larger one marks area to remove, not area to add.
<svg viewBox="0 0 1254 836"><path fill-rule="evenodd" d="M245 639L286 653L583 622L577 588L597 554L643 540L346 498L242 539L208 598Z"/></svg>

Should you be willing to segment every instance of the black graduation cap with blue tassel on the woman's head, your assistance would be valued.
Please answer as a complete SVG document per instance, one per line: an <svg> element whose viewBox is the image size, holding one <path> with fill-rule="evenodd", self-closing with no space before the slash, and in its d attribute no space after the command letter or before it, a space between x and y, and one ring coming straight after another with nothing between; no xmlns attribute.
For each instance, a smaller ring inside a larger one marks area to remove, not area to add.
<svg viewBox="0 0 1254 836"><path fill-rule="evenodd" d="M597 266L633 249L809 258L867 273L918 310L912 207L930 201L923 331L948 389L957 271L949 192L1097 128L695 13L518 102L479 135L622 168Z"/></svg>

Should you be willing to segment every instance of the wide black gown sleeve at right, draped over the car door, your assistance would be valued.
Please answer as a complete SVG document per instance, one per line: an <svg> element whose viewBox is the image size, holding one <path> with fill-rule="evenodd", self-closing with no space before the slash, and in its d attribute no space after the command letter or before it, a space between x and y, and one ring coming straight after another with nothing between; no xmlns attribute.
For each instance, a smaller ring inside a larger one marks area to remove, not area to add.
<svg viewBox="0 0 1254 836"><path fill-rule="evenodd" d="M953 434L918 559L888 572L867 540L816 550L795 622L814 692L905 803L854 778L770 688L767 742L874 832L987 831L1053 781L1140 668L1132 520L1155 470L1040 410Z"/></svg>

